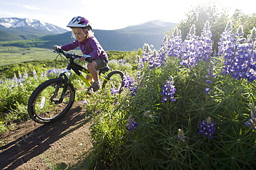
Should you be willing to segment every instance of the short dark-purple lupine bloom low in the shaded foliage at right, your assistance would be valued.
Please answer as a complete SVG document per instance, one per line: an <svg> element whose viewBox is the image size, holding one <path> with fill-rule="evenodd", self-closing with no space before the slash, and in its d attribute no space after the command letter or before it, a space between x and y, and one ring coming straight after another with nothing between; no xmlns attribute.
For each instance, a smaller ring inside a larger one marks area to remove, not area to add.
<svg viewBox="0 0 256 170"><path fill-rule="evenodd" d="M200 122L199 131L197 133L203 134L205 138L213 138L212 135L215 134L216 128L214 127L214 122L211 122L211 118L208 117L207 120Z"/></svg>

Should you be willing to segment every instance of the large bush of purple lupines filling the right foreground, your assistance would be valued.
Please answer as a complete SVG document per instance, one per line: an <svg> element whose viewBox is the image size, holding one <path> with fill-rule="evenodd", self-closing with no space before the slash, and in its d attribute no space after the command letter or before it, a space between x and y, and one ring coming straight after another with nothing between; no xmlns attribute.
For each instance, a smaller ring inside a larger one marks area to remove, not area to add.
<svg viewBox="0 0 256 170"><path fill-rule="evenodd" d="M176 28L159 50L145 44L123 94L94 105L91 167L255 169L256 29L244 38L229 22L218 52L208 21L195 30L182 40Z"/></svg>

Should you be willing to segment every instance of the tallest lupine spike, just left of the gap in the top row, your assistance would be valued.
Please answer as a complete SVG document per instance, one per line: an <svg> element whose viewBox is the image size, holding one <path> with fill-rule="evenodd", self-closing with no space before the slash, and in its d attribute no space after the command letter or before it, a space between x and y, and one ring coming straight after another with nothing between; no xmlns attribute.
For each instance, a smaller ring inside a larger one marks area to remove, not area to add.
<svg viewBox="0 0 256 170"><path fill-rule="evenodd" d="M210 59L210 54L212 53L212 32L210 31L209 21L205 22L205 26L203 28L203 32L201 32L201 37L199 37L199 49L201 51L198 56L198 60L203 59L203 61L207 62Z"/></svg>

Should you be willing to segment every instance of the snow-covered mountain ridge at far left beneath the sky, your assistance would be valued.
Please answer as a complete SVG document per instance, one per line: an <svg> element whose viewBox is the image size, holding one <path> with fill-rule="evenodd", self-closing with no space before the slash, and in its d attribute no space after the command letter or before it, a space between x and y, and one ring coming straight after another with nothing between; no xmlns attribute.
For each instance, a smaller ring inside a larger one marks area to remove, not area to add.
<svg viewBox="0 0 256 170"><path fill-rule="evenodd" d="M37 19L28 19L28 18L20 19L16 17L0 18L0 26L3 26L5 28L17 28L17 27L27 26L27 27L33 27L33 28L41 28L44 30L48 30L50 32L54 32L56 34L60 34L68 31L58 26L55 26L51 23L46 23L44 21L39 21Z"/></svg>

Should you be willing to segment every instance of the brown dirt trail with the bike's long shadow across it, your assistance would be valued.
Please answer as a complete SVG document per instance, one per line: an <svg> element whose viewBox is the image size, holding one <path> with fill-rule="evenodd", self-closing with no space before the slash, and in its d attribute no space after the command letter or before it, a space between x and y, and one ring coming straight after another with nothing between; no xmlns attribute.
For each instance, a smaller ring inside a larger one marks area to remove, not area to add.
<svg viewBox="0 0 256 170"><path fill-rule="evenodd" d="M92 148L90 116L75 102L61 120L22 122L0 135L0 169L85 169Z"/></svg>

